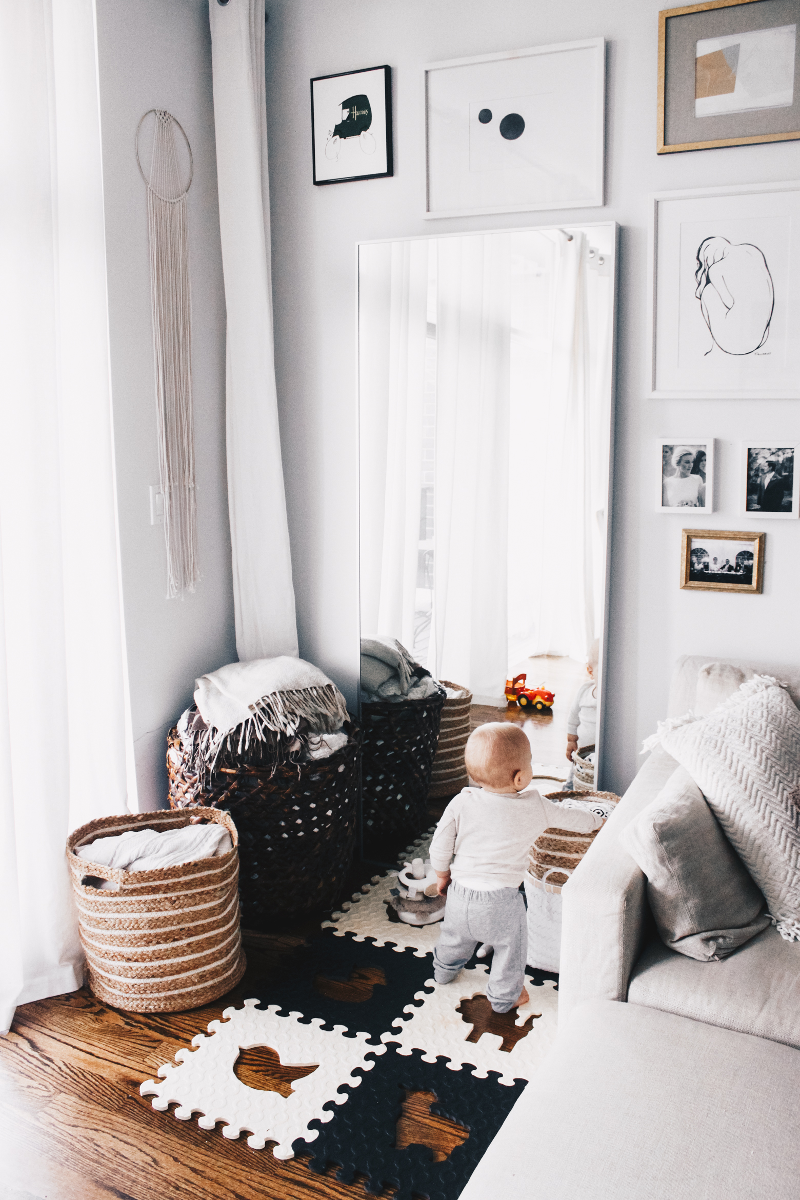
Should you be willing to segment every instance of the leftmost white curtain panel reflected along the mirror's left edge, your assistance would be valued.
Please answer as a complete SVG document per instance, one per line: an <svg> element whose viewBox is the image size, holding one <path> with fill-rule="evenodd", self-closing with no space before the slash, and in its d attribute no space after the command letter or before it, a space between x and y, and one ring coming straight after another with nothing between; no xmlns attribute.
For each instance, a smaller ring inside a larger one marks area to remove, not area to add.
<svg viewBox="0 0 800 1200"><path fill-rule="evenodd" d="M361 629L414 646L429 244L360 251Z"/></svg>

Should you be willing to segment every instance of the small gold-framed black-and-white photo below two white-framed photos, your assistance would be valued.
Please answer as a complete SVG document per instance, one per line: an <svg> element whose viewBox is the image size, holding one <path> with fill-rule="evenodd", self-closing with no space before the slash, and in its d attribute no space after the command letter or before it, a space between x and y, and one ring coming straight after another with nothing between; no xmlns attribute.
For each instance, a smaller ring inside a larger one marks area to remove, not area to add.
<svg viewBox="0 0 800 1200"><path fill-rule="evenodd" d="M684 529L680 586L696 592L762 592L765 533Z"/></svg>

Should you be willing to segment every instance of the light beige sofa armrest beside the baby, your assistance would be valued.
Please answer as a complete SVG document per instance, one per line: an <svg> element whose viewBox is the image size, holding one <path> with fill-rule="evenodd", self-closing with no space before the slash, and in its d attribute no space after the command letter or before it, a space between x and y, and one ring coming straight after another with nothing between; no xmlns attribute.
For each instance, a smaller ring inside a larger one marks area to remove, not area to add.
<svg viewBox="0 0 800 1200"><path fill-rule="evenodd" d="M656 749L564 884L559 1021L587 1000L627 1000L649 919L646 878L619 834L656 798L678 763Z"/></svg>

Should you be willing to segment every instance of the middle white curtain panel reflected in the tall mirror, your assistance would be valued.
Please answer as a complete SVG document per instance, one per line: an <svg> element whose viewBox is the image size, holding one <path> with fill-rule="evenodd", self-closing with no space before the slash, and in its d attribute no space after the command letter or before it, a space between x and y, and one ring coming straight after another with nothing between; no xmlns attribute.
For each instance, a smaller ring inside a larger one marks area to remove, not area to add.
<svg viewBox="0 0 800 1200"><path fill-rule="evenodd" d="M503 695L509 576L510 239L438 241L435 674Z"/></svg>

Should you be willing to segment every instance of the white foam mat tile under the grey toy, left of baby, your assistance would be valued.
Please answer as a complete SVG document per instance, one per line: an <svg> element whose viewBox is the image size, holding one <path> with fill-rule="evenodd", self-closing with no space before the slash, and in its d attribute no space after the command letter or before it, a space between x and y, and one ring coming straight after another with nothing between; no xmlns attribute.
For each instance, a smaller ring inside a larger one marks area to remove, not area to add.
<svg viewBox="0 0 800 1200"><path fill-rule="evenodd" d="M401 864L414 858L427 857L433 832L419 838L399 856ZM407 925L404 922L390 922L386 916L386 904L391 899L392 888L397 887L397 871L390 871L383 878L373 876L372 883L365 884L361 892L353 894L353 900L342 905L341 912L331 913L330 920L323 922L323 929L332 928L337 937L353 934L356 942L367 937L375 940L375 946L395 943L395 949L402 953L408 947L415 952L415 958L425 958L433 953L439 940L441 922L433 925Z"/></svg>

